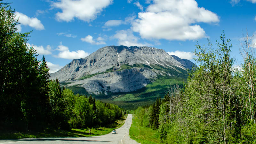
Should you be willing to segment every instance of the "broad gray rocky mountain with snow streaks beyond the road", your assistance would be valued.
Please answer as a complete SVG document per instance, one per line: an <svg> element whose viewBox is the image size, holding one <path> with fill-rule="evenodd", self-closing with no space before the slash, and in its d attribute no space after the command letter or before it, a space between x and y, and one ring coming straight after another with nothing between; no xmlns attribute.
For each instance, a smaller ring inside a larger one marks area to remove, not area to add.
<svg viewBox="0 0 256 144"><path fill-rule="evenodd" d="M129 93L164 79L187 79L193 62L154 47L106 46L89 56L73 59L50 79L89 94ZM169 83L170 84L170 83Z"/></svg>

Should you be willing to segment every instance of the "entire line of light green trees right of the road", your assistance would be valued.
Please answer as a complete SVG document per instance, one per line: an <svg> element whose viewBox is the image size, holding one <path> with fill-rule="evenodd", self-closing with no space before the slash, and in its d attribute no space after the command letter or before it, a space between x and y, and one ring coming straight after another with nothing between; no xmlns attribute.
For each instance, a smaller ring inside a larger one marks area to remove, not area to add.
<svg viewBox="0 0 256 144"><path fill-rule="evenodd" d="M163 143L256 143L252 37L244 36L241 70L233 68L229 42L223 33L217 48L210 40L207 48L197 44L199 67L188 72L183 89L171 88L161 102L135 110L140 125L157 129Z"/></svg>

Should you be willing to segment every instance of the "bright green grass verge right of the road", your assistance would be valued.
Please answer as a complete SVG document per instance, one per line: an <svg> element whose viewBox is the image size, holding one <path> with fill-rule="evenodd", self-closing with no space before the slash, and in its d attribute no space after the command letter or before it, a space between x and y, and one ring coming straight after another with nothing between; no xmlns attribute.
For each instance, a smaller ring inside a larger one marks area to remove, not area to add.
<svg viewBox="0 0 256 144"><path fill-rule="evenodd" d="M153 130L149 127L143 127L139 125L138 117L133 117L132 126L129 131L129 136L140 142L141 144L157 144L160 143L157 130Z"/></svg>

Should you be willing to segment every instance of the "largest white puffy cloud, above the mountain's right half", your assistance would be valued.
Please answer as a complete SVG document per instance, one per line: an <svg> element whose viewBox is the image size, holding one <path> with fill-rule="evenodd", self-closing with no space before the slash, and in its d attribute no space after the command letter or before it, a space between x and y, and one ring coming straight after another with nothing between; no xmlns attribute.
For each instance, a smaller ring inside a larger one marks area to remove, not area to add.
<svg viewBox="0 0 256 144"><path fill-rule="evenodd" d="M206 37L195 23L218 23L217 14L198 7L195 0L153 0L146 12L138 13L132 30L142 38L196 40Z"/></svg>

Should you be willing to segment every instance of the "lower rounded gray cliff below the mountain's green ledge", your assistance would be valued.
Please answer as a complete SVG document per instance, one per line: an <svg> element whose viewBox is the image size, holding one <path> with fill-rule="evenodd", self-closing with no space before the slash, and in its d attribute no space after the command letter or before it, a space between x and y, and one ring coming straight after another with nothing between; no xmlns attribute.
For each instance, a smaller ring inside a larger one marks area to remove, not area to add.
<svg viewBox="0 0 256 144"><path fill-rule="evenodd" d="M149 68L131 68L121 71L99 74L84 80L73 81L71 85L84 87L89 93L130 92L141 89L156 77Z"/></svg>

